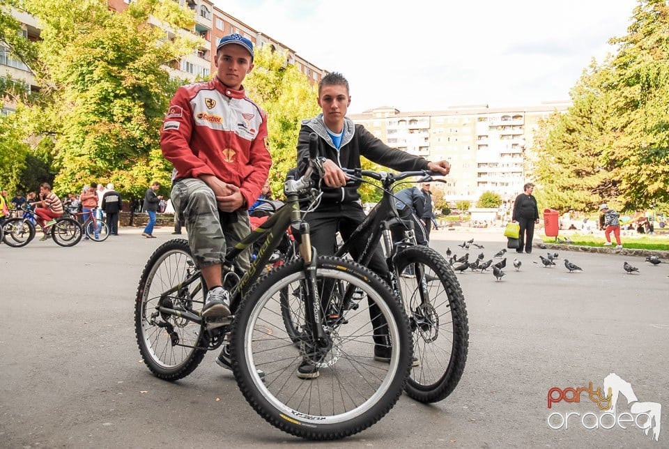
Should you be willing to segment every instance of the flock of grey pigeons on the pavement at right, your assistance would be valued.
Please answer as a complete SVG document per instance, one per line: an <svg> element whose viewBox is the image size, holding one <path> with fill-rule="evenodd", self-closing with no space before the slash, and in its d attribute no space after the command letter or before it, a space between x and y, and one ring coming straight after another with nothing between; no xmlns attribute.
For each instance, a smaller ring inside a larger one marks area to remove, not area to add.
<svg viewBox="0 0 669 449"><path fill-rule="evenodd" d="M479 248L481 250L484 249L484 245L478 245L477 243L474 243L473 238L463 242L461 245L458 246L463 250L469 250L472 246L475 248ZM541 248L542 246L543 246L542 249L545 250L546 245L539 245L539 248ZM481 252L476 257L476 259L470 261L469 252L466 252L465 255L458 257L457 254L454 254L454 252L451 251L451 248L448 248L446 250L446 257L454 271L458 271L459 273L466 273L466 271L471 270L474 272L483 273L484 271L488 271L488 269L491 268L492 273L495 276L495 280L499 281L502 280L502 277L504 277L505 275L503 268L507 266L507 258L505 257L506 252L507 249L503 248L502 250L498 251L495 255L493 255L492 259L489 259L487 261L484 261L486 256L483 252ZM496 264L493 264L494 259L497 257L499 258L503 257L503 259L498 261ZM558 258L557 252L548 252L548 254L546 254L546 257L539 255L539 259L541 260L541 264L544 265L544 268L557 266L557 264L555 264L555 259L557 258ZM646 257L646 261L654 266L662 263L661 259L658 256ZM533 263L539 264L539 262L536 261ZM520 271L521 265L522 265L521 261L514 258L514 268L516 269L516 271ZM583 271L583 268L580 268L580 266L574 264L573 262L570 262L568 259L564 259L564 268L567 268L569 273L574 273L576 271ZM631 266L629 263L627 263L627 261L625 261L622 268L624 268L624 271L626 271L627 274L639 273L639 269L636 268L636 266Z"/></svg>

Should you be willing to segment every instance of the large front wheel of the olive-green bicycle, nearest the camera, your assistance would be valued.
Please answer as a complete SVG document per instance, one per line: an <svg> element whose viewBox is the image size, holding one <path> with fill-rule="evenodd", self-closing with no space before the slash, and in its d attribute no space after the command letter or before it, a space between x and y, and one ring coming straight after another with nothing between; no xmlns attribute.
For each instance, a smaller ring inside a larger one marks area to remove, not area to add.
<svg viewBox="0 0 669 449"><path fill-rule="evenodd" d="M233 371L268 423L307 439L339 439L373 425L397 402L411 362L408 320L377 275L353 261L319 257L319 289L329 286L320 292L325 341L316 344L305 317L295 314L305 330L296 347L282 319L282 290L305 290L302 264L296 259L268 273L245 296L231 332ZM355 289L368 300L347 302L344 294ZM379 321L383 326L372 325ZM379 338L392 342L385 362L374 360Z"/></svg>

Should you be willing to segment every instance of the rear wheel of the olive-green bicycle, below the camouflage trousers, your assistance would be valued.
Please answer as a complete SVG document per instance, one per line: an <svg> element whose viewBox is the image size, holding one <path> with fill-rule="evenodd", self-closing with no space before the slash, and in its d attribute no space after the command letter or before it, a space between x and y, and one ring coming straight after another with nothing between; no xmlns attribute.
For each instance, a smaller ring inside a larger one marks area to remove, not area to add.
<svg viewBox="0 0 669 449"><path fill-rule="evenodd" d="M207 352L209 340L201 324L157 307L199 314L206 287L201 276L182 284L170 294L165 291L197 274L188 242L183 238L160 245L141 273L134 305L134 328L141 358L155 376L176 381L192 373Z"/></svg>

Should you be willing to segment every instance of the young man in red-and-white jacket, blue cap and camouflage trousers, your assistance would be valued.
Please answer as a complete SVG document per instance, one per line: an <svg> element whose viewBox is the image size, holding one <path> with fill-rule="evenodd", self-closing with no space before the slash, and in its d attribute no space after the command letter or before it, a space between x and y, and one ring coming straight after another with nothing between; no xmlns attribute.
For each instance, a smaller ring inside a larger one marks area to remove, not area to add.
<svg viewBox="0 0 669 449"><path fill-rule="evenodd" d="M216 76L182 86L172 98L160 148L174 165L171 199L183 220L195 264L208 293L202 317L229 316L222 262L251 228L247 209L259 197L272 158L266 113L247 98L242 82L253 68L251 40L224 36L216 50ZM249 253L236 260L250 267Z"/></svg>

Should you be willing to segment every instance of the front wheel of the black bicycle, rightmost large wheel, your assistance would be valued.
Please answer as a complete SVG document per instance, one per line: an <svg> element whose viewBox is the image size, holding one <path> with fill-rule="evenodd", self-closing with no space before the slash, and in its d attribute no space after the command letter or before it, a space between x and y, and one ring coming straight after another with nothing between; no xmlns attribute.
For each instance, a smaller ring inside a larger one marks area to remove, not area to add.
<svg viewBox="0 0 669 449"><path fill-rule="evenodd" d="M419 360L411 368L405 390L417 401L438 402L458 385L467 360L464 296L452 268L432 248L406 248L397 254L395 264L413 331L413 353ZM407 267L412 274L404 272Z"/></svg>

